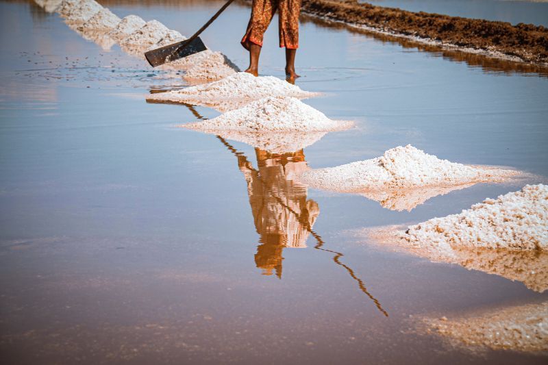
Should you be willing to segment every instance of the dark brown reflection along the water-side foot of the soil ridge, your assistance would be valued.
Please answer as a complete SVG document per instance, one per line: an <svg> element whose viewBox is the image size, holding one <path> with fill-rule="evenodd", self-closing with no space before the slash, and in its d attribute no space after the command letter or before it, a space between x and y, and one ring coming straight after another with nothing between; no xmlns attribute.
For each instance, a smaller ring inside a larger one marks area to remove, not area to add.
<svg viewBox="0 0 548 365"><path fill-rule="evenodd" d="M443 49L437 45L427 45L425 43L414 42L406 38L370 32L366 29L360 29L358 27L353 27L351 25L334 21L327 21L325 19L316 18L315 16L310 16L307 14L301 15L301 23L313 23L319 27L345 29L347 32L363 34L376 40L381 40L382 42L398 43L403 48L419 49L419 51L434 53L434 55L440 55L444 59L451 62L466 62L469 66L481 67L486 73L536 73L541 77L548 77L548 67L546 66L501 60L499 58L488 57L482 54L459 51L458 49Z"/></svg>

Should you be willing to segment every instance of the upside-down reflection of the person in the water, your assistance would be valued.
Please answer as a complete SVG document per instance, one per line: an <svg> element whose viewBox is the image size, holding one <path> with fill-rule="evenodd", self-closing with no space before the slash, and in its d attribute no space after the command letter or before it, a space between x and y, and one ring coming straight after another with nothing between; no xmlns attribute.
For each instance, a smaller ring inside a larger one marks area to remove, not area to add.
<svg viewBox="0 0 548 365"><path fill-rule="evenodd" d="M295 174L306 168L302 150L279 155L256 149L256 156L258 170L244 155L238 155L260 235L255 262L264 275L275 270L277 277L282 277L284 247L306 247L320 210L315 201L306 200L306 186L294 180Z"/></svg>

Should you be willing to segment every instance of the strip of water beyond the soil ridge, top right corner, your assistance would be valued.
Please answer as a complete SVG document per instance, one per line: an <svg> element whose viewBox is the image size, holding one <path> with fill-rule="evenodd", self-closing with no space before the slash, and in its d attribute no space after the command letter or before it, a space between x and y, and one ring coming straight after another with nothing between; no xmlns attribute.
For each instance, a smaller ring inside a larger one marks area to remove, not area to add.
<svg viewBox="0 0 548 365"><path fill-rule="evenodd" d="M369 0L360 1L411 12L548 26L548 2L527 0Z"/></svg>

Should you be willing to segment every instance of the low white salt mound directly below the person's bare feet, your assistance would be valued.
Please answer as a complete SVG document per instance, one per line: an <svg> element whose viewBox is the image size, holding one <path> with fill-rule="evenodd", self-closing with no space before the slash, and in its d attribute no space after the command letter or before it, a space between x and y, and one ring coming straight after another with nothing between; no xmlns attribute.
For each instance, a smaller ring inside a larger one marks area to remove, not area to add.
<svg viewBox="0 0 548 365"><path fill-rule="evenodd" d="M277 77L254 77L249 73L235 73L210 84L154 94L149 97L149 100L205 105L223 112L240 108L250 101L265 97L284 96L306 99L316 95L318 94L303 91L299 86L289 84Z"/></svg>

